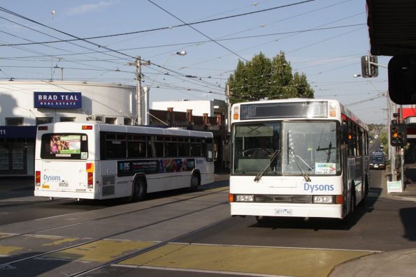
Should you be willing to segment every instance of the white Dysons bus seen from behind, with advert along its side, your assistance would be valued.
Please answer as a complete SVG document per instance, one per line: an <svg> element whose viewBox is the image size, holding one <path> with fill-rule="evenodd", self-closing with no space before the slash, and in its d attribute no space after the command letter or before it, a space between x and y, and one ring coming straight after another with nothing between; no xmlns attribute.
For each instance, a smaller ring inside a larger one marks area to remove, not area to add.
<svg viewBox="0 0 416 277"><path fill-rule="evenodd" d="M95 122L38 126L35 196L139 201L213 179L213 133Z"/></svg>

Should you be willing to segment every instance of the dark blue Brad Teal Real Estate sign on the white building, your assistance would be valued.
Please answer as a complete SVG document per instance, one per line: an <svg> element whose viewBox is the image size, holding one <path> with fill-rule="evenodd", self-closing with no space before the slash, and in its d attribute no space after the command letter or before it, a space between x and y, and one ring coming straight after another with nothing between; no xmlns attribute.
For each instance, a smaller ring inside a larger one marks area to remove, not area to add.
<svg viewBox="0 0 416 277"><path fill-rule="evenodd" d="M80 92L34 91L34 107L48 109L80 109L83 107Z"/></svg>

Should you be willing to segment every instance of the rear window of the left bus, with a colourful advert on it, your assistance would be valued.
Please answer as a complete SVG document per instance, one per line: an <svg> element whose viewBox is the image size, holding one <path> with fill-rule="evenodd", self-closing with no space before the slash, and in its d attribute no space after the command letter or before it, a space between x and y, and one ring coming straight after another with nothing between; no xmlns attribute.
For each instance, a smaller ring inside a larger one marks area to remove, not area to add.
<svg viewBox="0 0 416 277"><path fill-rule="evenodd" d="M88 140L85 134L45 134L42 136L41 158L88 158Z"/></svg>

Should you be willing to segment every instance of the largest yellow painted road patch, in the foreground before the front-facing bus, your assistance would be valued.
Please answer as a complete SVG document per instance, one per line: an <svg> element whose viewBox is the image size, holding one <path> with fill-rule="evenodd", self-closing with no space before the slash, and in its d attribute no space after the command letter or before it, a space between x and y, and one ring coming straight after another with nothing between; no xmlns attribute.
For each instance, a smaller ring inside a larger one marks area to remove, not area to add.
<svg viewBox="0 0 416 277"><path fill-rule="evenodd" d="M326 277L336 265L371 253L350 250L167 244L120 264Z"/></svg>

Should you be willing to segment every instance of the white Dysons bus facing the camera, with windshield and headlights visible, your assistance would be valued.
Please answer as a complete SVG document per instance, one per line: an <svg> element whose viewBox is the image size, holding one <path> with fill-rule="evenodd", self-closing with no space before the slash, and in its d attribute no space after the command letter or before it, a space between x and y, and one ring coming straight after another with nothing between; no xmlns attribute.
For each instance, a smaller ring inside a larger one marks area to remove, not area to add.
<svg viewBox="0 0 416 277"><path fill-rule="evenodd" d="M368 128L337 100L232 106L231 216L345 218L368 193Z"/></svg>

